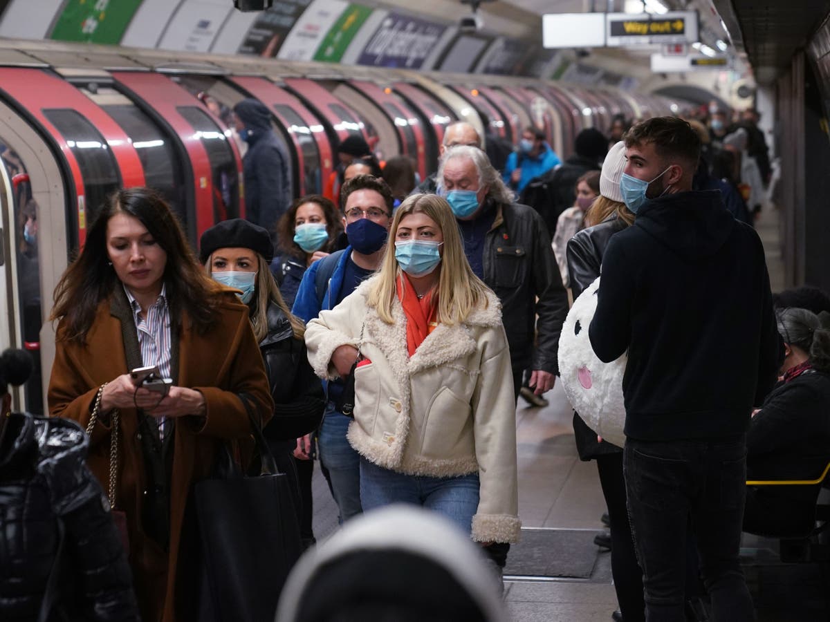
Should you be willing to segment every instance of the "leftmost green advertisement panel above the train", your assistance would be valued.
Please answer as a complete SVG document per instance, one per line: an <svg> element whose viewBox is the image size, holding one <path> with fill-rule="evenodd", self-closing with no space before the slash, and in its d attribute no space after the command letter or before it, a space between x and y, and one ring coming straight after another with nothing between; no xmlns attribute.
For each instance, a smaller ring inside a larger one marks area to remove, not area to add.
<svg viewBox="0 0 830 622"><path fill-rule="evenodd" d="M49 37L118 45L140 4L141 0L69 0Z"/></svg>

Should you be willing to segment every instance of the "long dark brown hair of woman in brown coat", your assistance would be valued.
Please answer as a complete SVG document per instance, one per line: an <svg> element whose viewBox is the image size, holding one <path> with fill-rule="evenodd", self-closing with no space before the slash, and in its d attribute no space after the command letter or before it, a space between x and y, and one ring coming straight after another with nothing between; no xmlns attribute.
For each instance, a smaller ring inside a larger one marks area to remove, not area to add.
<svg viewBox="0 0 830 622"><path fill-rule="evenodd" d="M139 220L167 253L163 278L173 324L180 328L183 311L186 311L198 332L207 331L217 313L219 299L215 293L218 285L199 265L176 216L159 192L133 187L107 197L87 231L83 250L55 288L55 307L50 319L64 320L66 333L62 338L84 343L98 305L109 298L120 283L106 250L107 224L117 213Z"/></svg>

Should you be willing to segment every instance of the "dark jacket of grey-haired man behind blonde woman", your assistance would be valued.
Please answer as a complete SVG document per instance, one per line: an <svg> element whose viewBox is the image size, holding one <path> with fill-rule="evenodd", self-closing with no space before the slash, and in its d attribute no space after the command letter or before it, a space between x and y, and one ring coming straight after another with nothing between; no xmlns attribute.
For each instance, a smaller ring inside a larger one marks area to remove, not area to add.
<svg viewBox="0 0 830 622"><path fill-rule="evenodd" d="M548 228L532 207L513 203L496 209L484 246L484 282L501 301L510 362L514 370L559 375L559 333L568 315L568 294Z"/></svg>

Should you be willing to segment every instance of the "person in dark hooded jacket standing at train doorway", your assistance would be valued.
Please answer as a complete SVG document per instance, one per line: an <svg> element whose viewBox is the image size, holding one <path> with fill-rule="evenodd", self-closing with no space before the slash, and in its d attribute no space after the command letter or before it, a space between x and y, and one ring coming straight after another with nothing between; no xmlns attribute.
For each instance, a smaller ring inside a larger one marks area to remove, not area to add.
<svg viewBox="0 0 830 622"><path fill-rule="evenodd" d="M271 129L271 113L265 104L248 98L235 105L233 112L237 132L248 144L242 158L246 217L272 231L291 205L291 158Z"/></svg>

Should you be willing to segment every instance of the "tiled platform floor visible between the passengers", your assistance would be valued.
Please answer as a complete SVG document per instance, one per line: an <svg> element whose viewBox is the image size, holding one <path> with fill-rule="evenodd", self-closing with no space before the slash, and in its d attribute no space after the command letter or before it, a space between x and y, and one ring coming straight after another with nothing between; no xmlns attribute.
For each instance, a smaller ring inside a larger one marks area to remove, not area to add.
<svg viewBox="0 0 830 622"><path fill-rule="evenodd" d="M759 221L774 291L784 282L776 216L768 211ZM522 522L525 527L600 531L605 504L596 464L581 462L577 456L573 411L559 383L546 397L549 406L530 408L520 399L516 411ZM320 540L337 528L337 509L319 469L315 469L314 491L314 527ZM745 547L749 556L745 569L759 622L830 620L826 568L781 566L770 560L768 549L774 543L761 538L748 537ZM610 555L598 554L589 579L506 576L505 601L515 622L608 622L617 609Z"/></svg>

